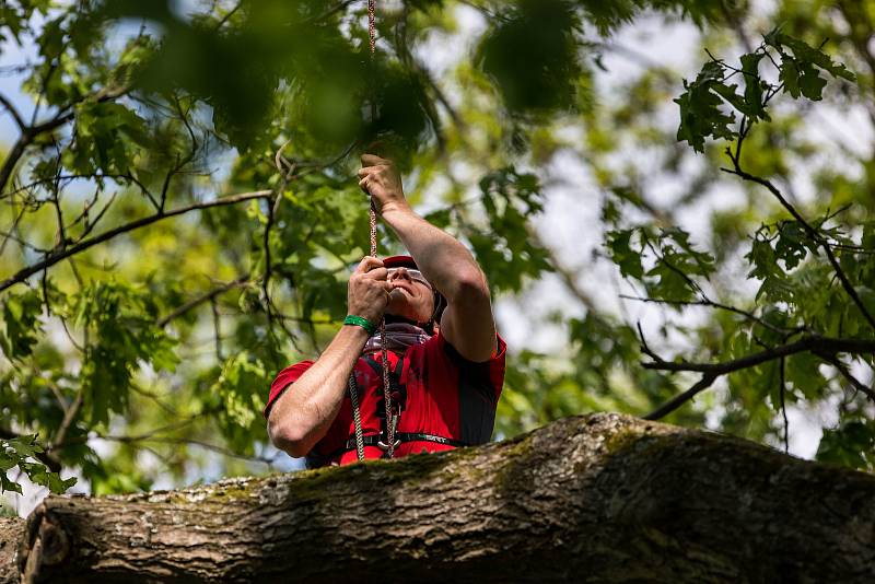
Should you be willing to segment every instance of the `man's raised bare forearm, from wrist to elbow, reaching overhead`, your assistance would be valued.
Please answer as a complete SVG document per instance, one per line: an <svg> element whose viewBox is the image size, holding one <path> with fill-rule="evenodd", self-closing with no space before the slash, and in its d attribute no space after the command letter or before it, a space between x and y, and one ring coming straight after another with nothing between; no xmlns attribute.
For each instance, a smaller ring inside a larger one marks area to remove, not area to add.
<svg viewBox="0 0 875 584"><path fill-rule="evenodd" d="M398 234L429 282L450 302L472 287L488 291L474 257L452 235L417 215L409 207L384 209L383 220Z"/></svg>

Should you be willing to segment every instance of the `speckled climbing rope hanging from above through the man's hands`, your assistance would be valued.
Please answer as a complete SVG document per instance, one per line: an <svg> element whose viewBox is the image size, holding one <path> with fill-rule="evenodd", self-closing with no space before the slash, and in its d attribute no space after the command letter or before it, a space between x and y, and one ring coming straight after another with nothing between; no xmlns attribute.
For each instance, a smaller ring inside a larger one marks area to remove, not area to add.
<svg viewBox="0 0 875 584"><path fill-rule="evenodd" d="M374 60L374 50L376 46L376 0L368 0L368 40L371 48L371 62ZM371 115L375 117L375 101L371 100ZM371 199L371 256L376 257L376 206L373 198ZM395 448L400 442L395 439L395 429L398 424L398 416L394 411L392 404L392 389L389 387L389 369L388 369L388 351L386 350L386 319L380 322L380 353L383 361L383 399L386 405L386 440L377 440L376 445L385 451L385 457L392 458L395 455ZM355 384L354 371L349 376L349 397L352 405L352 422L355 428L355 454L359 460L364 460L364 446L365 440L362 431L362 416L359 404L359 392ZM369 441L370 442L370 441ZM370 445L370 444L369 444Z"/></svg>

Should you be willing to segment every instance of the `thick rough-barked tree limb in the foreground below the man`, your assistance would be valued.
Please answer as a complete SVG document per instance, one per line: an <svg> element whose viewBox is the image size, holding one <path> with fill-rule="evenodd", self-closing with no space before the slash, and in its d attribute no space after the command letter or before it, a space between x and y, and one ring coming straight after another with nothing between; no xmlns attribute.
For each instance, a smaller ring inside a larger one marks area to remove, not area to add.
<svg viewBox="0 0 875 584"><path fill-rule="evenodd" d="M33 582L873 582L875 476L592 414L452 453L50 497L15 565Z"/></svg>

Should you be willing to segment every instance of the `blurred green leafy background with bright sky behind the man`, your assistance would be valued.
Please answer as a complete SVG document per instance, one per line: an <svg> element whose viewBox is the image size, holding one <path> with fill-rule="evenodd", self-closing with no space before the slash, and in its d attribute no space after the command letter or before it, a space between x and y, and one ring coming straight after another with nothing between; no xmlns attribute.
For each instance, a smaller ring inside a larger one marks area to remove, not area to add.
<svg viewBox="0 0 875 584"><path fill-rule="evenodd" d="M371 58L364 1L4 2L0 73L26 100L0 95L2 488L289 468L260 410L346 314L365 150L487 272L511 340L497 437L701 381L661 363L827 337L848 342L715 376L664 419L872 469L873 19L377 0Z"/></svg>

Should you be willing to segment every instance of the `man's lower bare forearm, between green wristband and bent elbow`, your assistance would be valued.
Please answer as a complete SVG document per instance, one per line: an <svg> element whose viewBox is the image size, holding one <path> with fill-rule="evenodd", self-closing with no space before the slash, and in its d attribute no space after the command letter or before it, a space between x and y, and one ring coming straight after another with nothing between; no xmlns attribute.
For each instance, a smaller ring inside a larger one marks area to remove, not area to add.
<svg viewBox="0 0 875 584"><path fill-rule="evenodd" d="M366 341L363 328L342 327L319 359L277 399L268 418L277 447L303 456L325 435L340 411L350 373Z"/></svg>

